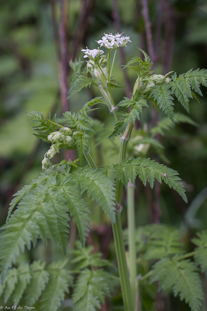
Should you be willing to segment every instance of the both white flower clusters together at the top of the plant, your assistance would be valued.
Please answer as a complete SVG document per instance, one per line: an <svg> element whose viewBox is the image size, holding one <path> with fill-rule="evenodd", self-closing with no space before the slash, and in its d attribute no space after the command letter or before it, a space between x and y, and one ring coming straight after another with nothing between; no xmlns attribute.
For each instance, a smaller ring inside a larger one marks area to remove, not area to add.
<svg viewBox="0 0 207 311"><path fill-rule="evenodd" d="M104 46L107 49L113 50L116 50L118 47L125 46L127 42L131 42L129 36L120 35L119 33L115 35L104 34L101 40L97 41L97 43L100 44L100 47ZM85 53L83 58L89 57L92 60L96 60L100 56L100 54L103 54L103 51L100 50L99 48L89 50L86 47L86 49L81 50L81 52Z"/></svg>

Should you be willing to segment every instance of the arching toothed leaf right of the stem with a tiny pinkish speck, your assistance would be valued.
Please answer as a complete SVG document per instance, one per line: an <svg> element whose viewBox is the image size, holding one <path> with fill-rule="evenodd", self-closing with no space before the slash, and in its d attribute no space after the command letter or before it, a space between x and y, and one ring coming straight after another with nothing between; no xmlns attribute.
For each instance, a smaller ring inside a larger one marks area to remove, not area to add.
<svg viewBox="0 0 207 311"><path fill-rule="evenodd" d="M182 196L183 200L187 202L183 184L180 182L180 178L177 177L178 173L154 160L141 157L131 160L126 159L122 164L114 165L111 170L117 173L119 180L122 181L126 188L129 179L133 183L137 175L144 185L146 185L146 181L148 181L151 188L154 185L155 179L157 179L159 183L164 180L170 188L173 187L173 189Z"/></svg>

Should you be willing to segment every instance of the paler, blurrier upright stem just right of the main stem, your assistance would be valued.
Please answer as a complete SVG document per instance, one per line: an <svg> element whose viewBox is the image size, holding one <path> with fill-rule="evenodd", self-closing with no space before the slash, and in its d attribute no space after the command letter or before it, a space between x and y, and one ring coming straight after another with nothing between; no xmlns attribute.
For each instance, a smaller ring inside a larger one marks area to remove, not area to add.
<svg viewBox="0 0 207 311"><path fill-rule="evenodd" d="M129 180L127 186L127 227L128 227L128 248L129 248L129 275L131 291L136 302L136 252L135 252L135 210L134 210L134 185ZM138 302L137 302L138 303Z"/></svg>

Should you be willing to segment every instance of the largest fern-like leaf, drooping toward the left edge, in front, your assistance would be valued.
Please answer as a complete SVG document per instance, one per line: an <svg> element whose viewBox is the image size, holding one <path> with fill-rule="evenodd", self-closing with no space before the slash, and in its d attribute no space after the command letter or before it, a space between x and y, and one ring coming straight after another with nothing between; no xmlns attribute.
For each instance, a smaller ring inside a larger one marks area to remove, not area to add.
<svg viewBox="0 0 207 311"><path fill-rule="evenodd" d="M55 245L60 242L65 251L69 216L64 196L55 190L55 186L56 182L52 179L47 186L39 185L31 190L20 202L8 223L1 227L5 229L0 236L2 280L12 263L16 262L20 251L23 252L25 246L31 249L31 242L35 246L39 237L45 244L47 238Z"/></svg>

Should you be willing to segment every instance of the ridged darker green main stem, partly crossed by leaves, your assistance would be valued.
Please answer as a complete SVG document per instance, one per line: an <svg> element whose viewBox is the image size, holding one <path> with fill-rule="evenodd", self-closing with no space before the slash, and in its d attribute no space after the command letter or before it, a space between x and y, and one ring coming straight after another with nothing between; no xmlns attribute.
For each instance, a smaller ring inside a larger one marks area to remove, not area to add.
<svg viewBox="0 0 207 311"><path fill-rule="evenodd" d="M127 143L128 143L128 140L130 139L132 128L133 128L133 124L132 122L130 122L129 125L127 126L127 129L124 135L120 138L119 163L122 163L122 161L126 157ZM123 189L123 184L117 178L116 202L118 204L121 204L122 189ZM125 310L134 311L134 300L133 300L131 284L129 282L129 276L128 276L127 260L126 260L126 254L125 254L125 245L124 245L120 213L116 215L115 223L112 224L112 226L113 226L113 236L114 236L116 257L118 261L118 268L119 268L119 275L120 275L120 280L121 280L121 289L122 289L122 296L123 296Z"/></svg>

